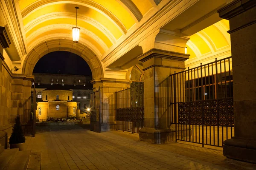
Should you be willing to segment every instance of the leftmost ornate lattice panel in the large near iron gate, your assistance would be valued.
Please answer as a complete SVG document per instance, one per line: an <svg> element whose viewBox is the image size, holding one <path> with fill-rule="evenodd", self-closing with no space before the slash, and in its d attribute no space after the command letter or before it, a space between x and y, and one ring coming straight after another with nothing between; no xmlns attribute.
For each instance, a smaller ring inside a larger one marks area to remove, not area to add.
<svg viewBox="0 0 256 170"><path fill-rule="evenodd" d="M189 103L178 104L178 119L180 124L189 124Z"/></svg>

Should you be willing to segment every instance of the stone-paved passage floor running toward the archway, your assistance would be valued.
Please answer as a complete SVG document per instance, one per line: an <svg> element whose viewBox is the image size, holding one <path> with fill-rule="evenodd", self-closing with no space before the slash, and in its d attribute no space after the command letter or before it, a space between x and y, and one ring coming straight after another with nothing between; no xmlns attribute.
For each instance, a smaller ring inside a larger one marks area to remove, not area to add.
<svg viewBox="0 0 256 170"><path fill-rule="evenodd" d="M137 134L95 133L89 126L37 127L26 150L41 154L41 170L256 170L221 150L172 142L148 144Z"/></svg>

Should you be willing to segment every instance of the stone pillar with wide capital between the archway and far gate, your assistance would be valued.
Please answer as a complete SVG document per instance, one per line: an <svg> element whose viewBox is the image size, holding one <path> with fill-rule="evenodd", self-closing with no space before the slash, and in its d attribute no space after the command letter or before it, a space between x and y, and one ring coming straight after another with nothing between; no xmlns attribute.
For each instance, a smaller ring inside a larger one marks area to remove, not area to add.
<svg viewBox="0 0 256 170"><path fill-rule="evenodd" d="M100 88L101 95L101 131L116 130L115 92L130 87L130 81L124 79L93 79L93 90Z"/></svg>

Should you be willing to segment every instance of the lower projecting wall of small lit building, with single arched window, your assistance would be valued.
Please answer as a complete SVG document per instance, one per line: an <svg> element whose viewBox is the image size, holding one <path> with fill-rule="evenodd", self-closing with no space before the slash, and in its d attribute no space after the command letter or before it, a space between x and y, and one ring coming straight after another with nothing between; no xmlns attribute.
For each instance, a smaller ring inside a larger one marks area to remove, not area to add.
<svg viewBox="0 0 256 170"><path fill-rule="evenodd" d="M49 101L48 116L53 118L67 118L67 101ZM60 106L60 110L56 110L56 106Z"/></svg>

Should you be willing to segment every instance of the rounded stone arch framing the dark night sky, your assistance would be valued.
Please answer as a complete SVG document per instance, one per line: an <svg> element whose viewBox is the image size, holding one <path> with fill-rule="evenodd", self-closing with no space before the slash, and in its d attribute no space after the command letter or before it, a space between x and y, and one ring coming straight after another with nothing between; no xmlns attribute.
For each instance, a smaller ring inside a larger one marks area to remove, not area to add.
<svg viewBox="0 0 256 170"><path fill-rule="evenodd" d="M54 39L41 42L29 51L23 62L22 74L32 75L35 64L44 55L54 51L69 51L82 57L89 65L93 79L104 77L102 63L96 54L83 43L68 39Z"/></svg>

